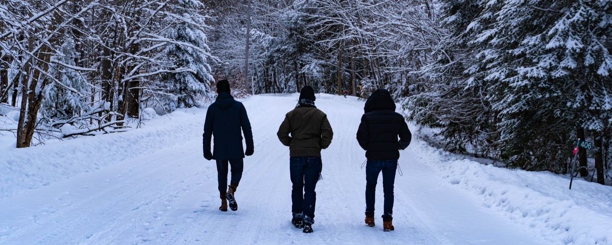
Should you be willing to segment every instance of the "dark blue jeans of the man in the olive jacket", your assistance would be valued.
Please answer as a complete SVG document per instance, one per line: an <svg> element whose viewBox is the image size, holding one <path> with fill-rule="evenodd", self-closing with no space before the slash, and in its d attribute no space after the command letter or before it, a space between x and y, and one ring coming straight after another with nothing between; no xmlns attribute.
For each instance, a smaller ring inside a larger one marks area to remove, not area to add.
<svg viewBox="0 0 612 245"><path fill-rule="evenodd" d="M304 216L310 219L315 218L315 187L322 168L321 157L291 157L289 159L291 183L293 183L291 212L304 213Z"/></svg>

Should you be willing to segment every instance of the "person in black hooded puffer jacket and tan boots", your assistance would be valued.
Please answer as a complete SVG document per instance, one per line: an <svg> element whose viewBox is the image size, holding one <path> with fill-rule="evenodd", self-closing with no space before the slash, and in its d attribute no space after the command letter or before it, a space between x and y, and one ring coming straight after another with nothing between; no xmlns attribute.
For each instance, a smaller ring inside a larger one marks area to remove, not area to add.
<svg viewBox="0 0 612 245"><path fill-rule="evenodd" d="M404 117L395 112L395 102L389 91L378 89L365 102L365 114L357 130L357 141L365 149L368 162L365 168L365 224L373 227L376 181L383 172L384 214L383 230L394 230L393 187L400 149L410 144L412 134ZM398 140L398 136L400 139Z"/></svg>

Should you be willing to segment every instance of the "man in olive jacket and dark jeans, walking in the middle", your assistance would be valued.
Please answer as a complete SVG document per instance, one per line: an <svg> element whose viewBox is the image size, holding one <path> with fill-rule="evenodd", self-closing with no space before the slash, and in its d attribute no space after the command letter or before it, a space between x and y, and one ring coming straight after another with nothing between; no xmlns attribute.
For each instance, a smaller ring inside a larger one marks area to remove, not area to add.
<svg viewBox="0 0 612 245"><path fill-rule="evenodd" d="M300 92L297 107L285 115L278 128L278 139L289 146L291 172L291 222L304 233L312 232L315 222L316 183L321 169L321 149L332 143L332 126L327 115L315 107L315 91L305 86ZM291 134L291 136L289 136Z"/></svg>

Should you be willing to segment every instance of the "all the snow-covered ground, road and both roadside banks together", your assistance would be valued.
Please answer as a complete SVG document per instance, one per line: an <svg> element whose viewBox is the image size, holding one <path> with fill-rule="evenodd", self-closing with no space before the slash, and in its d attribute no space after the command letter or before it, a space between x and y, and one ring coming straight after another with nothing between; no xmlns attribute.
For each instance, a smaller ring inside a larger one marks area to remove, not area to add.
<svg viewBox="0 0 612 245"><path fill-rule="evenodd" d="M0 244L612 244L612 188L550 173L478 164L414 135L395 183L395 232L364 219L363 102L319 95L334 140L323 151L315 232L291 225L289 150L276 137L297 94L244 101L255 155L239 210L218 211L217 172L204 160L206 109L142 129L27 149L0 149ZM416 127L411 126L413 132Z"/></svg>

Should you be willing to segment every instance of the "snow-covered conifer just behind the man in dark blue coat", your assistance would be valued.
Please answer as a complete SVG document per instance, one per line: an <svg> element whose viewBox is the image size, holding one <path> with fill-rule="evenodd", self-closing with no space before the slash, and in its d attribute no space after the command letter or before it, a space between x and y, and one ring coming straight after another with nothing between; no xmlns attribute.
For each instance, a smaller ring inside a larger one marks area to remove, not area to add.
<svg viewBox="0 0 612 245"><path fill-rule="evenodd" d="M214 57L207 44L206 15L204 5L197 0L177 0L174 11L181 15L180 23L172 22L166 37L181 44L168 45L163 54L174 67L187 68L184 72L164 74L162 80L168 86L168 92L176 96L172 109L193 107L199 98L211 98L211 62ZM172 18L170 21L176 21Z"/></svg>

